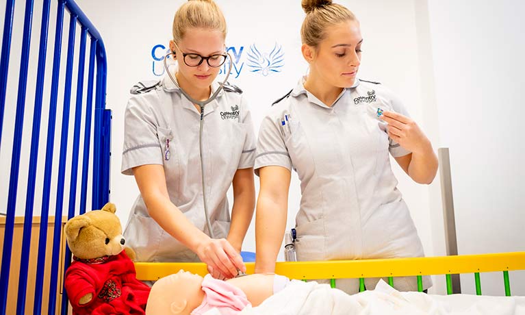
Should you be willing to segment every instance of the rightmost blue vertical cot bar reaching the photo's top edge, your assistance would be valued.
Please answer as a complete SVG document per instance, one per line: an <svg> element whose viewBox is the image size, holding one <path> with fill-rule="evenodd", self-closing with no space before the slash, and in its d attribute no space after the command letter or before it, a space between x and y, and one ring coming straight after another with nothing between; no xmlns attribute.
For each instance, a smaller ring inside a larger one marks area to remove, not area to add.
<svg viewBox="0 0 525 315"><path fill-rule="evenodd" d="M34 314L42 314L42 290L44 288L44 266L46 262L47 222L49 215L49 194L53 171L53 147L55 144L55 119L57 110L58 80L60 77L60 54L62 50L62 27L64 23L64 1L57 4L55 25L55 47L53 53L53 75L51 78L51 99L47 122L47 145L44 168L44 188L42 191L42 212L40 215L40 236L38 238L38 263L36 264ZM54 294L50 294L54 295ZM52 314L52 313L49 313Z"/></svg>

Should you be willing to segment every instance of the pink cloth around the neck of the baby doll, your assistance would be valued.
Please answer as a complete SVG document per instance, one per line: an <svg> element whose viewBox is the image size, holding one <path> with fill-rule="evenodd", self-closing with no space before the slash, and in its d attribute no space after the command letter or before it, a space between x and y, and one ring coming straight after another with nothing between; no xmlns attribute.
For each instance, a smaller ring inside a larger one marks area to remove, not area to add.
<svg viewBox="0 0 525 315"><path fill-rule="evenodd" d="M230 283L206 275L203 280L205 297L203 303L193 310L191 315L201 315L216 307L222 315L238 314L244 307L251 305L246 294Z"/></svg>

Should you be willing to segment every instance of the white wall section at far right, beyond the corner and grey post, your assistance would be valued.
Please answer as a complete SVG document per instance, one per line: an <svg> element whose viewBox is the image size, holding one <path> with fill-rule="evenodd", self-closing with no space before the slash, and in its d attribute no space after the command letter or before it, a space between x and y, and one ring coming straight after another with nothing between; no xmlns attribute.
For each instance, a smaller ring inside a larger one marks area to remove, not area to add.
<svg viewBox="0 0 525 315"><path fill-rule="evenodd" d="M429 0L428 8L459 254L524 251L525 3ZM473 276L461 277L463 292L475 292ZM501 273L481 280L484 294L502 294ZM513 293L525 294L524 280L523 272L511 275Z"/></svg>

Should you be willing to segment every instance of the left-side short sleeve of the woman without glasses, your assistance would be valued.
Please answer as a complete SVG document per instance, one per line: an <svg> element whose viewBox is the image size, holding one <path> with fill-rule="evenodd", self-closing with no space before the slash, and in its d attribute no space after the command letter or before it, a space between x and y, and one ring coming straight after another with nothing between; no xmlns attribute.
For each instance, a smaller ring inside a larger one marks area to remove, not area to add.
<svg viewBox="0 0 525 315"><path fill-rule="evenodd" d="M288 154L281 128L277 119L266 116L259 129L255 157L255 174L264 166L283 166L292 171L292 160Z"/></svg>

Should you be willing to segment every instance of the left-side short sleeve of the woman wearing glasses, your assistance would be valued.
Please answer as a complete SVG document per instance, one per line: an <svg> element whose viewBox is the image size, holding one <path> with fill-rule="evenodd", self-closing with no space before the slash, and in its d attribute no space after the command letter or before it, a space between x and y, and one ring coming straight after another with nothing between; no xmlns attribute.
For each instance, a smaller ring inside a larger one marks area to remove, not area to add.
<svg viewBox="0 0 525 315"><path fill-rule="evenodd" d="M162 165L162 148L151 105L141 95L131 97L124 118L122 167L124 175L133 175L131 168L145 164Z"/></svg>

